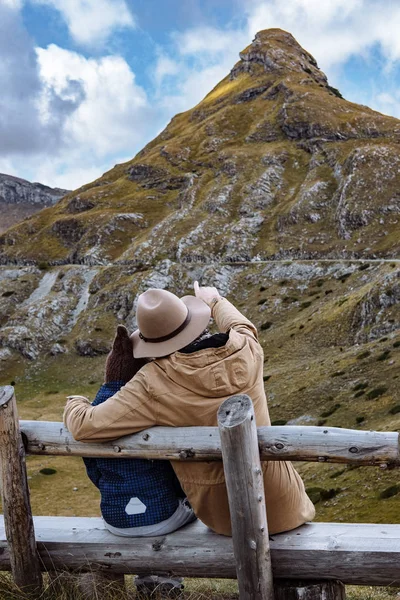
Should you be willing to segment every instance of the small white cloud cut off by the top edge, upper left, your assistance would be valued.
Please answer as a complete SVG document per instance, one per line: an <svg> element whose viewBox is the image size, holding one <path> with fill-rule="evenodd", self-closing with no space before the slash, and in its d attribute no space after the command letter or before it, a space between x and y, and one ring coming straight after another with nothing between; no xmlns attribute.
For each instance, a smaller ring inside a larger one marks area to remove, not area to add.
<svg viewBox="0 0 400 600"><path fill-rule="evenodd" d="M7 0L15 1L15 0ZM116 29L134 27L135 20L125 0L31 0L58 10L78 44L96 45Z"/></svg>

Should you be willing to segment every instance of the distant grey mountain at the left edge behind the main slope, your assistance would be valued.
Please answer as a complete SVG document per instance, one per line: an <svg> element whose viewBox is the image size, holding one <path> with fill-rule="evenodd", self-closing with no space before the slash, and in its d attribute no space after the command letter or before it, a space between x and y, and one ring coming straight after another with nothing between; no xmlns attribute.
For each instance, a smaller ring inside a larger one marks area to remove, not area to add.
<svg viewBox="0 0 400 600"><path fill-rule="evenodd" d="M68 191L0 173L0 233L42 208L53 206Z"/></svg>

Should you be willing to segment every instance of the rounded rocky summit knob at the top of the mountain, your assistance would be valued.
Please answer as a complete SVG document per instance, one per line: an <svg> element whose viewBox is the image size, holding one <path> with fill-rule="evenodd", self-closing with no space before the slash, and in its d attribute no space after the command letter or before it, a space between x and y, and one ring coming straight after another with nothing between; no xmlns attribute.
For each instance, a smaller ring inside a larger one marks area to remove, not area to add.
<svg viewBox="0 0 400 600"><path fill-rule="evenodd" d="M328 83L315 58L290 33L282 29L259 31L239 56L240 61L232 69L231 78L242 72L258 75L261 66L266 73L280 76L290 72L304 73L318 84Z"/></svg>

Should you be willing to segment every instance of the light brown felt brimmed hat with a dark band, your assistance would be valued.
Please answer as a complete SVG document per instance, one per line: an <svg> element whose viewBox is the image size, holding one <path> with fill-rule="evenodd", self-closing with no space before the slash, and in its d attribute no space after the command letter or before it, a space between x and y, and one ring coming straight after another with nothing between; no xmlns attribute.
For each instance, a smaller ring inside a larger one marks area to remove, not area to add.
<svg viewBox="0 0 400 600"><path fill-rule="evenodd" d="M167 290L150 288L138 300L139 329L131 335L134 357L157 358L184 348L204 331L210 317L210 308L200 298L179 299Z"/></svg>

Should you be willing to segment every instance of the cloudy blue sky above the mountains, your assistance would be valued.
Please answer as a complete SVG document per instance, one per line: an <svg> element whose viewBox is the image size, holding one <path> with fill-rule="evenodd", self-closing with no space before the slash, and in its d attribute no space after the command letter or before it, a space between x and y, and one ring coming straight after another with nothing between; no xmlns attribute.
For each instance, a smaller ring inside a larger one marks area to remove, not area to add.
<svg viewBox="0 0 400 600"><path fill-rule="evenodd" d="M400 118L400 0L0 0L0 172L75 189L196 105L279 27Z"/></svg>

